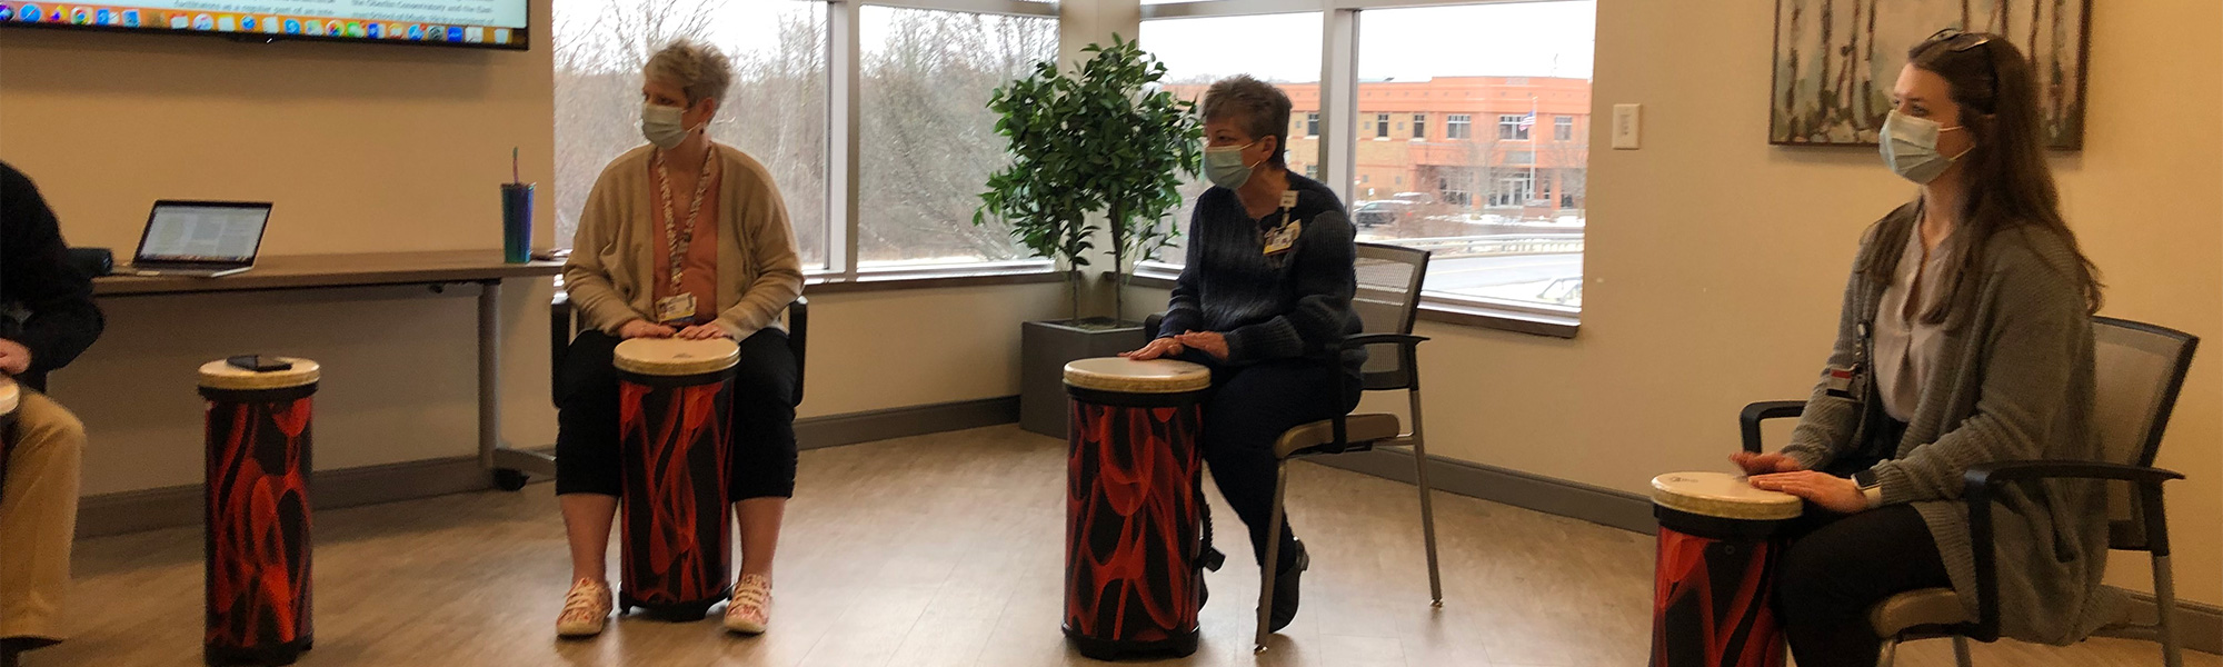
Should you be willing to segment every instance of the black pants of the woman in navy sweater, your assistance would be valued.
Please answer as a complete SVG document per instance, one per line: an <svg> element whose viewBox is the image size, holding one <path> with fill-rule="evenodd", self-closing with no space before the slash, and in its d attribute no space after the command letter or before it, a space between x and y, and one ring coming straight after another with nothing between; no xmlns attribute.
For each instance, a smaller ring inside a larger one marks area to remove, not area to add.
<svg viewBox="0 0 2223 667"><path fill-rule="evenodd" d="M1220 496L1236 509L1249 527L1252 556L1265 565L1265 538L1274 518L1274 442L1280 434L1307 422L1325 420L1358 407L1358 382L1352 380L1345 396L1336 396L1334 382L1340 367L1312 360L1278 360L1249 367L1229 367L1189 351L1185 360L1212 367L1212 396L1205 398L1203 449L1212 480L1220 485ZM1280 563L1276 571L1296 560L1296 534L1289 520L1280 527Z"/></svg>

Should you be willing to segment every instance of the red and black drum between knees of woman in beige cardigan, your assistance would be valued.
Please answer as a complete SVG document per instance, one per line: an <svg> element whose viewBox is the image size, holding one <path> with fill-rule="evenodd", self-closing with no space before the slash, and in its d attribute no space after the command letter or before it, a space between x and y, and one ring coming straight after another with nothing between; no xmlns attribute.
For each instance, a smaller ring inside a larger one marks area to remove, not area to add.
<svg viewBox="0 0 2223 667"><path fill-rule="evenodd" d="M618 342L625 540L618 611L700 620L731 587L734 340Z"/></svg>

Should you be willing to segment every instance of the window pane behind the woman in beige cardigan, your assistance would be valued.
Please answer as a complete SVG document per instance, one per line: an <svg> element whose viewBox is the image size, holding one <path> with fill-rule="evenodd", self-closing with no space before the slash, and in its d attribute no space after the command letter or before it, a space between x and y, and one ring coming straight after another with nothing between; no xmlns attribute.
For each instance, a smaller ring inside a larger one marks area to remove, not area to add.
<svg viewBox="0 0 2223 667"><path fill-rule="evenodd" d="M827 7L800 0L556 2L556 242L571 247L580 209L609 160L640 138L640 67L674 40L734 60L711 138L771 171L803 265L827 265Z"/></svg>

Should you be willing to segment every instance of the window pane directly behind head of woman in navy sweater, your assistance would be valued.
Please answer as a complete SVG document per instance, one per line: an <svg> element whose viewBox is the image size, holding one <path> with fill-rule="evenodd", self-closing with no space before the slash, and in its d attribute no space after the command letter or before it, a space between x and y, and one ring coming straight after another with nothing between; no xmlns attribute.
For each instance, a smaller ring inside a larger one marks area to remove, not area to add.
<svg viewBox="0 0 2223 667"><path fill-rule="evenodd" d="M1249 73L1289 93L1289 171L1314 176L1320 169L1320 16L1267 13L1174 18L1143 22L1143 49L1165 62L1167 87L1203 104L1205 89L1220 78ZM1309 100L1305 96L1312 96ZM1203 173L1180 185L1180 211L1165 225L1187 233L1196 196L1212 185ZM1174 238L1152 258L1180 265L1185 238Z"/></svg>

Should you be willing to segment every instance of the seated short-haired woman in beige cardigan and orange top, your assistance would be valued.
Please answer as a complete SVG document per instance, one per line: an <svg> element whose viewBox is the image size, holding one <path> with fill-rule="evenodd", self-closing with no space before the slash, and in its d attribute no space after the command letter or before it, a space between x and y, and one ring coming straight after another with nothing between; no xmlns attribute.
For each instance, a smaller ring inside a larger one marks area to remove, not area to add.
<svg viewBox="0 0 2223 667"><path fill-rule="evenodd" d="M725 627L765 631L771 554L796 487L796 358L780 309L803 293L794 229L762 165L709 140L731 69L716 49L671 44L645 67L647 147L611 160L580 211L565 289L585 331L558 374L556 494L571 540L560 636L600 634L611 516L618 509L618 378L625 338L731 338L734 516L740 583ZM678 265L678 271L674 271Z"/></svg>

